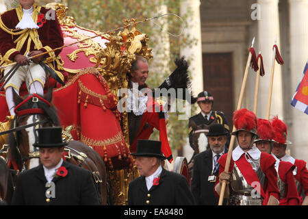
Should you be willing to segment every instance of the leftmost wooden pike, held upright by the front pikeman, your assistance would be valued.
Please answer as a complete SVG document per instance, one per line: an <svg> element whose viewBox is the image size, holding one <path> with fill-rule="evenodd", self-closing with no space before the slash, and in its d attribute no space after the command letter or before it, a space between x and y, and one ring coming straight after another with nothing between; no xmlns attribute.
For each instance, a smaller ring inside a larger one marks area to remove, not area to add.
<svg viewBox="0 0 308 219"><path fill-rule="evenodd" d="M253 68L253 70L257 70L258 69L257 56L255 55L255 49L253 49L253 44L254 43L255 43L255 38L253 38L253 42L251 43L251 48L249 49L249 55L248 55L248 59L247 59L247 63L246 63L246 68L245 68L245 73L244 73L243 81L242 81L242 88L241 88L241 92L240 92L240 98L238 99L238 106L237 106L236 110L240 110L240 108L242 107L244 90L246 88L246 82L247 82L247 78L248 78L249 66L251 66ZM234 125L233 125L232 132L233 131L235 131L235 126ZM228 151L227 160L226 160L226 165L224 166L224 171L225 172L229 171L229 166L230 166L230 162L231 162L231 156L232 156L232 151L233 151L234 140L235 140L235 136L231 136L231 140L230 140L230 144L229 144L229 151ZM218 205L222 205L222 201L223 201L223 198L224 198L224 190L225 190L225 188L226 188L226 181L222 181L222 186L221 186L221 189L220 189L220 196L219 196Z"/></svg>

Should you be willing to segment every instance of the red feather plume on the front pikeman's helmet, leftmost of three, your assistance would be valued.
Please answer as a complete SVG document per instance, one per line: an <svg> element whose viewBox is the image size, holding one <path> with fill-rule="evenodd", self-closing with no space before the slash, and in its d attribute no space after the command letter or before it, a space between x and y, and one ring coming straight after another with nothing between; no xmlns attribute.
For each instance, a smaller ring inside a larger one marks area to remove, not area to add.
<svg viewBox="0 0 308 219"><path fill-rule="evenodd" d="M249 110L236 110L233 115L233 124L237 131L244 130L257 134L257 116Z"/></svg>

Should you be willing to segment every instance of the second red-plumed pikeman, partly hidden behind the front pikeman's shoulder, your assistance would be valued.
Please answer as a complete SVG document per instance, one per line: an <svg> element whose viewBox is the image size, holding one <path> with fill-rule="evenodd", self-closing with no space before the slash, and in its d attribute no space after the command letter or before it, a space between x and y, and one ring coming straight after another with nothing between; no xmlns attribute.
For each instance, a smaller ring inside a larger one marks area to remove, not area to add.
<svg viewBox="0 0 308 219"><path fill-rule="evenodd" d="M259 118L257 120L257 133L259 138L255 140L255 145L259 151L270 154L274 138L274 129L269 120ZM277 185L280 192L279 205L299 205L300 198L298 196L293 170L295 168L290 162L283 162L276 159L275 169L277 171Z"/></svg>

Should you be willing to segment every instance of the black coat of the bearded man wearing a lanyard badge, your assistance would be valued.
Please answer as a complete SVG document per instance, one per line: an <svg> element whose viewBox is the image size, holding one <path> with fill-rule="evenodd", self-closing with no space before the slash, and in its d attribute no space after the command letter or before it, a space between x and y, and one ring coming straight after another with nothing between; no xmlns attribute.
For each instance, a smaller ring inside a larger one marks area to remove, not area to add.
<svg viewBox="0 0 308 219"><path fill-rule="evenodd" d="M227 153L227 149L224 149L224 153ZM218 205L218 198L214 194L215 181L209 181L212 169L213 154L211 149L194 157L191 190L197 205ZM218 177L218 171L214 175Z"/></svg>

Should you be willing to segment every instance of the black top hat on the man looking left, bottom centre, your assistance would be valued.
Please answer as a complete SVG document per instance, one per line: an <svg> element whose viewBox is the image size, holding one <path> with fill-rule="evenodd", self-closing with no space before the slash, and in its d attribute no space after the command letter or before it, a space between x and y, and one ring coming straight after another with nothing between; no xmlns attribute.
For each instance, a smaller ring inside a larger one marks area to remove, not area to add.
<svg viewBox="0 0 308 219"><path fill-rule="evenodd" d="M162 154L162 142L155 140L137 140L137 151L131 153L136 157L158 157L160 159L166 159Z"/></svg>

